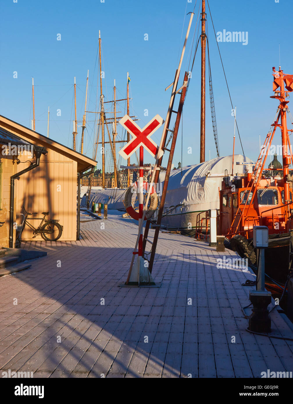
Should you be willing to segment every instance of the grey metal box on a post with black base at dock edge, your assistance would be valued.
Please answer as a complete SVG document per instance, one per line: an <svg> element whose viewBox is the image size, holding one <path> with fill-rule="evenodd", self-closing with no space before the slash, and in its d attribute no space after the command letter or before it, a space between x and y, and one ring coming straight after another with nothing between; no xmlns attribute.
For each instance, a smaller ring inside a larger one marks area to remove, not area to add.
<svg viewBox="0 0 293 404"><path fill-rule="evenodd" d="M249 330L255 332L270 332L271 319L268 305L272 301L272 294L265 290L264 249L268 247L269 229L266 226L253 227L253 245L257 248L258 267L256 290L249 292L249 299L253 305L249 316Z"/></svg>

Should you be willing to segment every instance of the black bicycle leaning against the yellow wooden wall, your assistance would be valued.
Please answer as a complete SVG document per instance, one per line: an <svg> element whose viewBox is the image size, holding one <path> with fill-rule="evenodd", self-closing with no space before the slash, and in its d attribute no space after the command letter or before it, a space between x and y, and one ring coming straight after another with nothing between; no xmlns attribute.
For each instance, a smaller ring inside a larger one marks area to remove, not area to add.
<svg viewBox="0 0 293 404"><path fill-rule="evenodd" d="M29 217L32 215L38 215L38 212L34 212L34 213L30 213L27 212L24 208L24 206L22 206L24 212L25 212L25 216L24 216L24 220L23 223L21 225L21 229L19 231L19 234L15 240L15 244L19 244L20 246L20 236L23 232L23 229L25 227L25 225L27 224L28 227L30 227L33 231L33 238L38 236L38 234L41 235L41 237L45 240L45 241L57 241L59 240L59 238L62 236L62 231L63 231L63 226L59 225L59 219L46 219L46 216L48 216L49 212L42 212L42 215L44 215L44 217ZM36 228L34 227L30 222L28 222L27 220L41 220L40 225ZM45 222L45 223L44 223ZM43 224L44 223L44 224Z"/></svg>

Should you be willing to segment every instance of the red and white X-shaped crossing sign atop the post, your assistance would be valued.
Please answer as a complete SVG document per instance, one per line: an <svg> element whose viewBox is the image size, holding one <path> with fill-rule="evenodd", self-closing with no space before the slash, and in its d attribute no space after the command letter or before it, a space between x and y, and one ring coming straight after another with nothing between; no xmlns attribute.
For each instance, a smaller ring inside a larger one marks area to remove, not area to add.
<svg viewBox="0 0 293 404"><path fill-rule="evenodd" d="M158 155L159 147L150 139L151 135L164 123L160 115L154 116L144 128L140 128L128 115L124 115L119 123L129 132L132 136L126 146L124 146L119 154L127 160L131 154L135 152L140 146L143 146L154 158L160 158L164 154L161 150Z"/></svg>

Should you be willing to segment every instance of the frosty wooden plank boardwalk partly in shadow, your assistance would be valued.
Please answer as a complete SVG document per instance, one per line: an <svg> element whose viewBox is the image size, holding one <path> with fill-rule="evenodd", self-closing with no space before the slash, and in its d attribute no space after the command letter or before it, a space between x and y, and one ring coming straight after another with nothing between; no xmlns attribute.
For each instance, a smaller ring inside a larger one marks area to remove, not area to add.
<svg viewBox="0 0 293 404"><path fill-rule="evenodd" d="M160 232L152 272L160 288L120 288L135 222L110 211L108 220L81 223L81 234L76 242L24 243L47 257L0 278L0 370L34 377L257 378L268 369L293 370L293 341L245 330L241 307L253 287L241 284L255 276L218 269L223 254L215 248ZM229 250L224 255L236 258ZM272 334L293 337L284 315L275 309L271 318Z"/></svg>

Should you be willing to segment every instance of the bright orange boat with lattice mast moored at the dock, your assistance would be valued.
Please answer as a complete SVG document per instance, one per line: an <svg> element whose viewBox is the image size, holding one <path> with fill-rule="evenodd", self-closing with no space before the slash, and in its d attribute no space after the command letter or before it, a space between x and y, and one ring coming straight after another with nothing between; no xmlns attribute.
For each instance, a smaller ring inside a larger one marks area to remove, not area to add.
<svg viewBox="0 0 293 404"><path fill-rule="evenodd" d="M253 226L267 226L269 246L265 256L266 273L285 282L293 229L293 181L289 173L289 166L291 162L293 164L289 132L292 133L293 130L287 128L287 114L290 116L287 104L289 93L293 91L293 75L284 74L281 67L277 72L273 67L273 76L274 95L271 98L279 101L276 120L266 136L257 162L241 163L245 164L247 173L241 177L232 175L223 178L219 191L218 234L225 235L233 250L255 264ZM282 170L279 171L281 175L269 176L264 166L277 128L280 128L282 139Z"/></svg>

